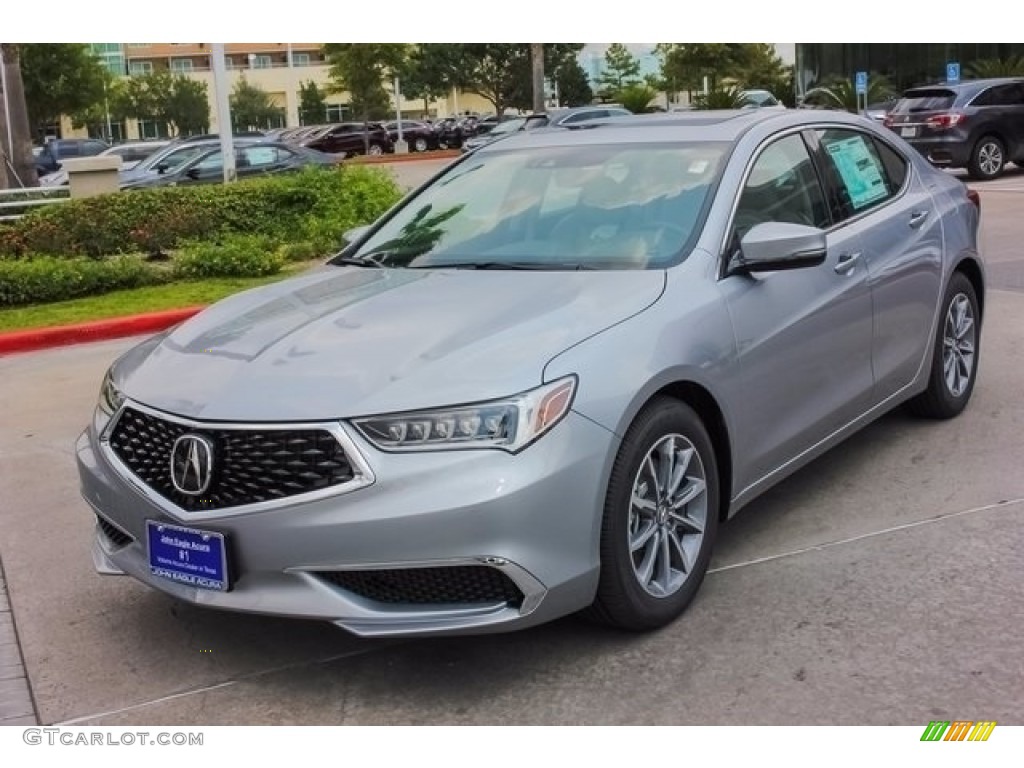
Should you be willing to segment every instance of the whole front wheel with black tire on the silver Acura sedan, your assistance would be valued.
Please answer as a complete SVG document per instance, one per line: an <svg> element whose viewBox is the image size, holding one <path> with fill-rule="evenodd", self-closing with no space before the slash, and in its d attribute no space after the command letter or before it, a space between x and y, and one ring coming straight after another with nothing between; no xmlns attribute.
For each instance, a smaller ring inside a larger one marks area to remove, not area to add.
<svg viewBox="0 0 1024 768"><path fill-rule="evenodd" d="M672 478L680 466L675 489L669 483L669 503L658 502L666 489L659 475ZM634 632L679 616L703 581L719 509L715 452L699 417L678 400L652 400L615 457L601 523L597 596L585 614Z"/></svg>

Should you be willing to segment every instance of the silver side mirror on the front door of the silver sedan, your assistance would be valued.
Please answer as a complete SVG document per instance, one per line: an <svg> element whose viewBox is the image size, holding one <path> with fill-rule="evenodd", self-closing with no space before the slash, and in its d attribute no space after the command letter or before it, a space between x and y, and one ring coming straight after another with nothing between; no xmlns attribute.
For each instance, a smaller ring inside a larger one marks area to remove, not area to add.
<svg viewBox="0 0 1024 768"><path fill-rule="evenodd" d="M739 253L729 262L729 273L817 266L825 260L827 252L827 238L821 229L785 221L767 221L743 236Z"/></svg>

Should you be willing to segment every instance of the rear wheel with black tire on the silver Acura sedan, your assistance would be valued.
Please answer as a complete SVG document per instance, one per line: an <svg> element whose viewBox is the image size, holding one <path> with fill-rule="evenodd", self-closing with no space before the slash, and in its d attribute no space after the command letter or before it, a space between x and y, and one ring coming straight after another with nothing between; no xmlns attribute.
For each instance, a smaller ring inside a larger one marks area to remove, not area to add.
<svg viewBox="0 0 1024 768"><path fill-rule="evenodd" d="M974 286L963 272L953 272L942 300L928 389L908 402L912 413L951 419L967 407L978 378L980 341L981 313Z"/></svg>

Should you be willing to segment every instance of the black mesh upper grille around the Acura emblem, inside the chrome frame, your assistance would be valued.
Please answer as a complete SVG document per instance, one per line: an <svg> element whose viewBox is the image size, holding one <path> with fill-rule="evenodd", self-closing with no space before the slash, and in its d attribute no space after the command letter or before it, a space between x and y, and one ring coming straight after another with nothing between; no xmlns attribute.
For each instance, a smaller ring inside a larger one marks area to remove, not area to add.
<svg viewBox="0 0 1024 768"><path fill-rule="evenodd" d="M171 451L183 434L213 443L213 474L201 497L180 493L171 481ZM354 476L344 450L324 429L191 427L126 408L111 447L142 482L188 511L285 499Z"/></svg>

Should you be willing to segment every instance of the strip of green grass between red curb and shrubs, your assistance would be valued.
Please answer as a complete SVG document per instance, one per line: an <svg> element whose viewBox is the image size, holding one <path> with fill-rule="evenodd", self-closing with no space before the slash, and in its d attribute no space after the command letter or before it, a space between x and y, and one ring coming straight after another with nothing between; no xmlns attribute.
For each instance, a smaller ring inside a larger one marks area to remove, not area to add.
<svg viewBox="0 0 1024 768"><path fill-rule="evenodd" d="M87 296L52 304L31 304L0 309L0 332L88 323L126 314L212 304L247 288L294 276L307 266L307 264L290 265L278 274L263 278L207 278L170 283L166 286L113 291L100 296Z"/></svg>

